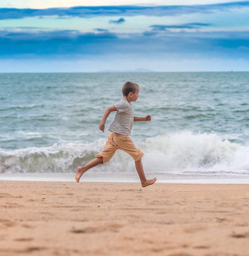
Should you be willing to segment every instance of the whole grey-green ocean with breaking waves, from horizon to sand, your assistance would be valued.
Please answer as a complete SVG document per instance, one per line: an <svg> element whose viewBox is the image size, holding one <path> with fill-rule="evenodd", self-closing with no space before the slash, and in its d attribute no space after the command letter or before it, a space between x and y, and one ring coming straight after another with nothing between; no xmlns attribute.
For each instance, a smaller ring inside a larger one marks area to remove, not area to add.
<svg viewBox="0 0 249 256"><path fill-rule="evenodd" d="M0 74L0 180L74 181L104 147L104 110L140 85L131 138L158 182L249 183L249 72ZM118 150L81 181L139 182Z"/></svg>

